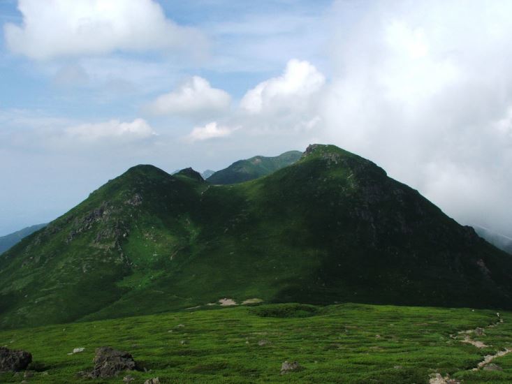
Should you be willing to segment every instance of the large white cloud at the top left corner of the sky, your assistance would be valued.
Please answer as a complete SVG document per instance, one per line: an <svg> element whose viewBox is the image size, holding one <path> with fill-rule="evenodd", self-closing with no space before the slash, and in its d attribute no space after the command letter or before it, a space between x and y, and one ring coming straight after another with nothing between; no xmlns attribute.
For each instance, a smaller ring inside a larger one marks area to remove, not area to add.
<svg viewBox="0 0 512 384"><path fill-rule="evenodd" d="M182 49L203 54L200 31L166 18L154 0L18 0L21 25L7 23L12 52L31 59L114 51Z"/></svg>

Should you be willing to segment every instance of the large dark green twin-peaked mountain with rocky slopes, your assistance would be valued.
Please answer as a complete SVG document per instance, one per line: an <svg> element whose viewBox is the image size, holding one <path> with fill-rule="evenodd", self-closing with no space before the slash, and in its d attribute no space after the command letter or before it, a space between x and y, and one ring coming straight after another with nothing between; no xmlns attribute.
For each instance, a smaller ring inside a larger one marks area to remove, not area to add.
<svg viewBox="0 0 512 384"><path fill-rule="evenodd" d="M223 298L510 309L511 294L508 254L332 145L225 186L138 165L0 257L0 327Z"/></svg>

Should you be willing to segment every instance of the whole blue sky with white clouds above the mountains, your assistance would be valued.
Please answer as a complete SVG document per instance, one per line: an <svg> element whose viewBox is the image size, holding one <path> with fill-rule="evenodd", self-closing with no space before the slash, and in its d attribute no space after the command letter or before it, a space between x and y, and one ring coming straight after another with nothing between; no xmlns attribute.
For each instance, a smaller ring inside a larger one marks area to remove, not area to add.
<svg viewBox="0 0 512 384"><path fill-rule="evenodd" d="M0 0L0 235L133 165L330 143L512 237L509 0Z"/></svg>

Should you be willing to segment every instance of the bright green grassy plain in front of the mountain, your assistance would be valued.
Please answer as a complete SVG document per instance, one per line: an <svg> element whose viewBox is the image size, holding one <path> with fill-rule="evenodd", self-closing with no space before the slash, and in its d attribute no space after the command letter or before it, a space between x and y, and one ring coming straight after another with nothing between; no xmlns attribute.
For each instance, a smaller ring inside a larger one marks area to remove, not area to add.
<svg viewBox="0 0 512 384"><path fill-rule="evenodd" d="M494 311L339 304L270 304L50 325L0 332L0 345L29 350L36 372L29 383L120 383L76 376L92 368L94 349L127 350L147 371L134 384L161 383L427 383L439 372L464 383L510 383L512 354L496 359L504 371L467 371L512 346L512 313L488 328L478 349L451 338L486 327ZM184 344L182 344L184 341ZM85 351L68 355L73 348ZM284 360L302 370L280 375ZM19 383L22 374L0 374Z"/></svg>

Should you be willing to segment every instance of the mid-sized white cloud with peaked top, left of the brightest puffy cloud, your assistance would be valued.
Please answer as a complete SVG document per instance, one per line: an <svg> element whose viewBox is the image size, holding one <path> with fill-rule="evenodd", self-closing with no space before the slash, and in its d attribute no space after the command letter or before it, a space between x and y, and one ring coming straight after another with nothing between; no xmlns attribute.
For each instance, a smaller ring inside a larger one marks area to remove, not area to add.
<svg viewBox="0 0 512 384"><path fill-rule="evenodd" d="M193 76L175 91L163 94L147 105L154 115L203 115L229 108L231 96L212 88L203 77Z"/></svg>

